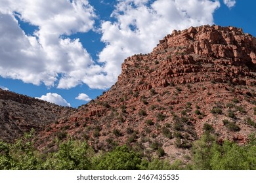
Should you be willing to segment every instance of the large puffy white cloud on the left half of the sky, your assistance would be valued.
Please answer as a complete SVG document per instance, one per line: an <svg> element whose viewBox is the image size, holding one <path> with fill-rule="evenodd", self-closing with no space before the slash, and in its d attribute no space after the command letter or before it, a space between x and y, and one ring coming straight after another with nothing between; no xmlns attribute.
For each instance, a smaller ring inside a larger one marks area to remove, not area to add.
<svg viewBox="0 0 256 183"><path fill-rule="evenodd" d="M15 16L38 30L26 35ZM95 18L87 0L0 1L0 75L58 88L95 75L98 68L79 39L65 38L93 29Z"/></svg>

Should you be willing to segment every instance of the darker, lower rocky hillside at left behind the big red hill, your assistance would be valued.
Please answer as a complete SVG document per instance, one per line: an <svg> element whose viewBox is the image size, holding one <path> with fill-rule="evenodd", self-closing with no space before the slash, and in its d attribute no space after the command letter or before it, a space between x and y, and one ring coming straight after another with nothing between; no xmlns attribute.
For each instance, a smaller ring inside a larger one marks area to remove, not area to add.
<svg viewBox="0 0 256 183"><path fill-rule="evenodd" d="M72 109L0 89L0 110L0 139L14 141L32 128L43 130Z"/></svg>

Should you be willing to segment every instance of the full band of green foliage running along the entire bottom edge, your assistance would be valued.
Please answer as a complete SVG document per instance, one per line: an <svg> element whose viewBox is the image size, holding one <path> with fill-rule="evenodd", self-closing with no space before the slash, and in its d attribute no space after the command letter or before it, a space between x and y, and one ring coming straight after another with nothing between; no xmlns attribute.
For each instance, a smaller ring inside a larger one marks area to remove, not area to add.
<svg viewBox="0 0 256 183"><path fill-rule="evenodd" d="M224 141L219 144L210 133L195 141L191 163L177 159L152 158L127 146L110 152L95 153L87 142L72 139L58 144L55 152L39 152L33 148L32 136L8 144L0 142L0 169L256 169L256 135L244 146Z"/></svg>

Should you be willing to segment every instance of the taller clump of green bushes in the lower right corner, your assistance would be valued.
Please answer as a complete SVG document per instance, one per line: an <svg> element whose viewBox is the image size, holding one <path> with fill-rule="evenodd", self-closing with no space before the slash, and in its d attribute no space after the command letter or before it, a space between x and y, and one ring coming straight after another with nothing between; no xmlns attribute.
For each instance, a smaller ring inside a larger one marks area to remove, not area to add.
<svg viewBox="0 0 256 183"><path fill-rule="evenodd" d="M256 169L256 136L249 136L249 143L239 146L234 142L224 141L218 144L215 137L205 134L192 147L192 169Z"/></svg>

